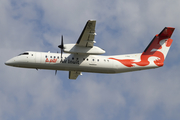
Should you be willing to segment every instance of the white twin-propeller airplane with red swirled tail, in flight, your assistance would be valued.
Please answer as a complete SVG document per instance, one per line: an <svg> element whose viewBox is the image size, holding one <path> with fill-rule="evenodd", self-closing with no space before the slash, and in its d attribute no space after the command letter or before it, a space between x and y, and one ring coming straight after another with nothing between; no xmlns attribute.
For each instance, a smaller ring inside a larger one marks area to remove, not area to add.
<svg viewBox="0 0 180 120"><path fill-rule="evenodd" d="M61 44L61 53L26 51L6 61L13 67L69 71L69 79L76 79L82 72L123 73L164 65L173 42L175 28L165 27L155 35L142 53L103 56L105 50L94 46L96 20L88 20L76 44Z"/></svg>

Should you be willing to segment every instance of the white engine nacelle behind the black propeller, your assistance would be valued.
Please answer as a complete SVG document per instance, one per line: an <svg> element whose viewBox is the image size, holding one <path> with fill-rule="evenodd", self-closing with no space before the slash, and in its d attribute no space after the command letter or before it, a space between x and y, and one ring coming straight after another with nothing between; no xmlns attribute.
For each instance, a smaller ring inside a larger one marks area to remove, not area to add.
<svg viewBox="0 0 180 120"><path fill-rule="evenodd" d="M75 44L64 44L64 52L65 53L78 53L78 54L92 54L92 55L100 55L104 54L105 51L97 46L93 47L83 47Z"/></svg>

